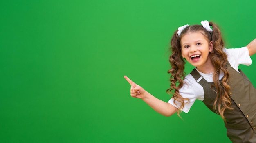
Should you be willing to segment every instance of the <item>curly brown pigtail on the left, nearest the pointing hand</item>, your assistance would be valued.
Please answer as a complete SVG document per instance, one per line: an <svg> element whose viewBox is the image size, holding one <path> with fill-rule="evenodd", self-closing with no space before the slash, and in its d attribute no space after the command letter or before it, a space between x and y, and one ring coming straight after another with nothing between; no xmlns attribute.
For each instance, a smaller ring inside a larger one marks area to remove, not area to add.
<svg viewBox="0 0 256 143"><path fill-rule="evenodd" d="M175 101L180 102L181 106L178 108L177 115L180 116L182 109L184 108L184 100L189 100L188 98L183 98L179 90L183 86L183 79L185 77L185 63L186 61L182 58L181 47L180 47L180 37L177 35L177 31L174 32L171 39L171 56L169 57L169 62L171 69L168 70L168 73L171 74L170 82L171 87L166 90L167 93L173 94L174 104ZM177 86L178 83L178 86ZM174 90L174 93L172 91Z"/></svg>

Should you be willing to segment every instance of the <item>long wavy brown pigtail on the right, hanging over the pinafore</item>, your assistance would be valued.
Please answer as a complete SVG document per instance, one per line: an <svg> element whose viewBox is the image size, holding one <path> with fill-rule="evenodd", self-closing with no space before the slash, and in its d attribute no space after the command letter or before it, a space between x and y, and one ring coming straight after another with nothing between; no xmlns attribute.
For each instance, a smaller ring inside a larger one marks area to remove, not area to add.
<svg viewBox="0 0 256 143"><path fill-rule="evenodd" d="M215 111L217 111L222 119L225 121L224 111L225 109L231 108L231 98L228 93L230 90L230 86L227 84L229 79L229 72L227 70L227 54L223 52L224 42L222 39L222 35L218 26L212 22L209 22L210 26L213 28L213 32L211 33L211 38L213 41L213 50L210 53L211 62L215 67L215 71L213 74L213 82L214 85L211 87L216 88L217 97L214 101L213 107ZM224 72L224 76L222 78L222 82L219 81L220 72ZM218 103L218 105L216 105Z"/></svg>

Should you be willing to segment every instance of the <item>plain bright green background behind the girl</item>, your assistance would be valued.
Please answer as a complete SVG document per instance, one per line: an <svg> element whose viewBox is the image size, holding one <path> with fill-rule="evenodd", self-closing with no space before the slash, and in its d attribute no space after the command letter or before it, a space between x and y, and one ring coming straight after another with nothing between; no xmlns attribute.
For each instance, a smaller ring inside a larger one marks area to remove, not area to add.
<svg viewBox="0 0 256 143"><path fill-rule="evenodd" d="M1 0L1 143L230 143L196 101L164 117L130 97L127 75L168 101L173 32L216 22L227 48L256 36L253 0ZM252 83L251 66L240 66ZM186 72L193 67L188 65Z"/></svg>

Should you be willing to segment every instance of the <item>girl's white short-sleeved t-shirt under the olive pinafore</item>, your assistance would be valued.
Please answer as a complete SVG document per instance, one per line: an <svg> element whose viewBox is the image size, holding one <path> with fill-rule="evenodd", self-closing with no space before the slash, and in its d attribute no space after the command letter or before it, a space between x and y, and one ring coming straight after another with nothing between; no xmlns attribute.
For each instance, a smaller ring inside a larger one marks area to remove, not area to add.
<svg viewBox="0 0 256 143"><path fill-rule="evenodd" d="M224 52L227 53L228 61L236 71L238 71L238 66L242 65L251 65L252 59L249 56L249 51L247 47L242 48L234 48L234 49L226 49L224 48ZM198 71L198 70L197 70ZM199 72L199 71L198 71ZM238 71L239 72L239 71ZM213 82L213 73L211 74L204 74L199 72L199 74L207 81ZM223 72L220 73L219 80L223 77ZM196 82L195 78L191 74L188 74L184 80L187 84L184 84L182 88L180 88L180 95L184 98L189 98L189 102L185 100L183 112L188 113L191 106L194 104L195 100L204 100L204 89L203 87ZM173 98L171 98L168 103L172 104L173 106L177 107L174 102ZM175 101L178 105L180 102Z"/></svg>

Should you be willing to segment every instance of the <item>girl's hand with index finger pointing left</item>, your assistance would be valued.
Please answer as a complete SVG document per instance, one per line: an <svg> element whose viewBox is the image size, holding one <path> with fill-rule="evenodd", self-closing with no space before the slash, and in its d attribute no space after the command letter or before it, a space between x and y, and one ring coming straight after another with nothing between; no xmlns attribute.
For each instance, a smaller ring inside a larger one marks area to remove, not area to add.
<svg viewBox="0 0 256 143"><path fill-rule="evenodd" d="M130 78L124 76L124 78L130 83L131 85L131 96L134 98L144 98L146 91L139 85L135 84Z"/></svg>

